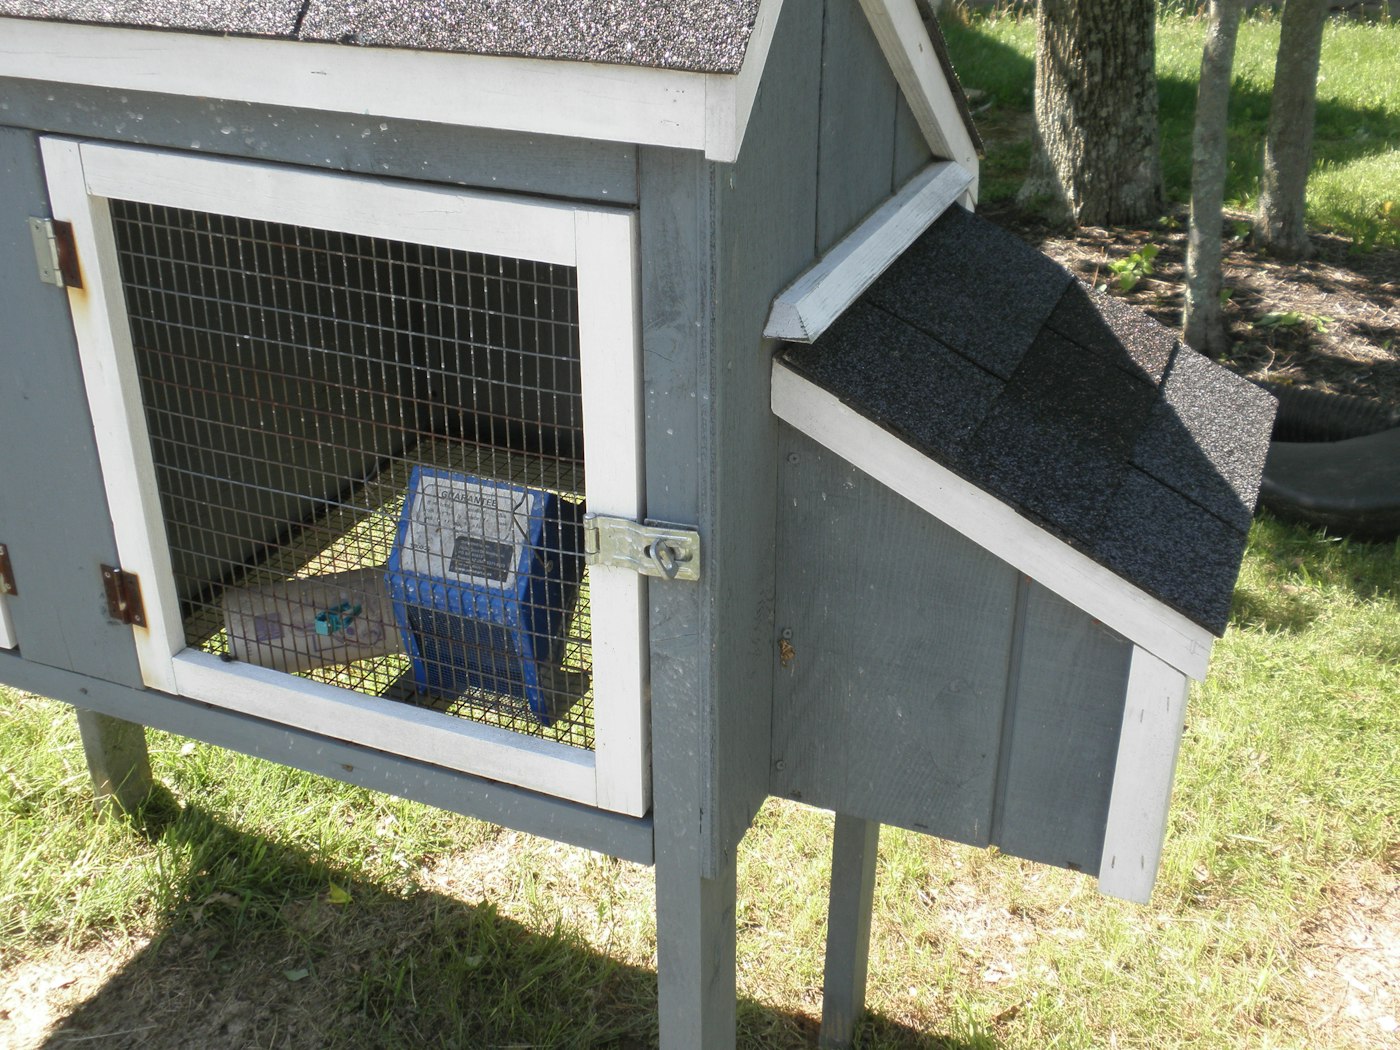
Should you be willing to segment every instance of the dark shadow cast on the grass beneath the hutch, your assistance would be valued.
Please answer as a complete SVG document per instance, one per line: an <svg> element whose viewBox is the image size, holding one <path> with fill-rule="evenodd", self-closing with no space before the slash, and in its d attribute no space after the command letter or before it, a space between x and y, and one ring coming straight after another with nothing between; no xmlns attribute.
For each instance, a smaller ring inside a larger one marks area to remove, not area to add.
<svg viewBox="0 0 1400 1050"><path fill-rule="evenodd" d="M162 791L162 790L158 790ZM433 892L395 895L309 851L157 794L137 815L182 860L160 934L48 1047L657 1046L657 974L563 924L540 931ZM557 920L556 920L557 923ZM813 1047L812 1018L741 1000L738 1044ZM869 1018L860 1047L994 1050Z"/></svg>

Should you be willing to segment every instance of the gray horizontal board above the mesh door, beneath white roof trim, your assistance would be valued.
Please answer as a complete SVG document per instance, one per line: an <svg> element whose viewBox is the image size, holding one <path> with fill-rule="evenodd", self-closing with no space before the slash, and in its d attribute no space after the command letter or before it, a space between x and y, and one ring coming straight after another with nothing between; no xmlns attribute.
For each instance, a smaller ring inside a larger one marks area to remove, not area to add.
<svg viewBox="0 0 1400 1050"><path fill-rule="evenodd" d="M0 78L0 123L501 192L637 202L619 143Z"/></svg>

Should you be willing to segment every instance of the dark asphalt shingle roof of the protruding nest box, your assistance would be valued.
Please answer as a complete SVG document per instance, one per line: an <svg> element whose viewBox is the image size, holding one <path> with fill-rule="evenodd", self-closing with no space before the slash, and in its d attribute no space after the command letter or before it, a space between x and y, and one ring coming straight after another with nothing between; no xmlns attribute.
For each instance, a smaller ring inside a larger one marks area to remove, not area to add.
<svg viewBox="0 0 1400 1050"><path fill-rule="evenodd" d="M783 360L1224 633L1275 405L1147 315L952 207Z"/></svg>

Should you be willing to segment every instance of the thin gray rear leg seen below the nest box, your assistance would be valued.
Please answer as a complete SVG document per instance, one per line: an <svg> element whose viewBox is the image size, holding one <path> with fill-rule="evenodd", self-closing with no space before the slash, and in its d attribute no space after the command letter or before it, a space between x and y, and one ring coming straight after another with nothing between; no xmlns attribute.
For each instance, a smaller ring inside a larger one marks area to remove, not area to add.
<svg viewBox="0 0 1400 1050"><path fill-rule="evenodd" d="M878 846L879 822L836 815L826 984L822 991L822 1050L848 1047L855 1036L855 1019L865 1009Z"/></svg>

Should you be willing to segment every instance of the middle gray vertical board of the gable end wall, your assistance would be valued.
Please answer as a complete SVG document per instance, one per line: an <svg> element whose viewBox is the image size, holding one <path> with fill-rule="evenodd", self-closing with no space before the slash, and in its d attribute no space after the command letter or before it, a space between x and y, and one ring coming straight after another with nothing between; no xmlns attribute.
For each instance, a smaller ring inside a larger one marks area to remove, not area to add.
<svg viewBox="0 0 1400 1050"><path fill-rule="evenodd" d="M816 251L820 255L890 192L899 85L857 0L826 0Z"/></svg>

